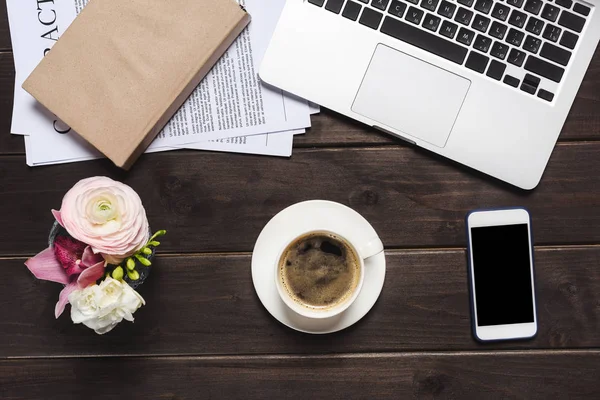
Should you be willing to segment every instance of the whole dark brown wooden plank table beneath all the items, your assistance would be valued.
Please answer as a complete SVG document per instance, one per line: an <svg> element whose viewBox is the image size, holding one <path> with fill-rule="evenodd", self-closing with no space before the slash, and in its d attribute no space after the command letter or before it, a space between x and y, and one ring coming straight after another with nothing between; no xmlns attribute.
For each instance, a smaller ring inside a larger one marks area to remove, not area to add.
<svg viewBox="0 0 600 400"><path fill-rule="evenodd" d="M291 159L180 151L130 172L106 160L28 168L11 136L14 68L0 6L0 398L398 399L600 397L600 51L537 189L525 192L323 110ZM60 286L23 265L79 179L139 192L169 231L135 323L97 336L54 319ZM387 279L355 326L310 336L263 308L253 244L278 211L328 199L363 214ZM539 334L480 345L470 332L464 216L530 209Z"/></svg>

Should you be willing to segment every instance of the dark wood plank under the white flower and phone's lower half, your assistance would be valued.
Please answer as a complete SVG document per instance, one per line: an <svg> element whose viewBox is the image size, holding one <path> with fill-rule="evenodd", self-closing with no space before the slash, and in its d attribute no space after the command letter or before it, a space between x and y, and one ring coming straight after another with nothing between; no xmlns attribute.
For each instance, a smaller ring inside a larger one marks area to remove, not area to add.
<svg viewBox="0 0 600 400"><path fill-rule="evenodd" d="M393 251L375 307L326 336L295 332L262 306L250 256L159 257L140 288L135 323L98 337L54 319L60 285L37 281L23 260L0 261L0 355L275 354L600 347L600 246L536 252L538 336L481 345L470 331L462 250Z"/></svg>

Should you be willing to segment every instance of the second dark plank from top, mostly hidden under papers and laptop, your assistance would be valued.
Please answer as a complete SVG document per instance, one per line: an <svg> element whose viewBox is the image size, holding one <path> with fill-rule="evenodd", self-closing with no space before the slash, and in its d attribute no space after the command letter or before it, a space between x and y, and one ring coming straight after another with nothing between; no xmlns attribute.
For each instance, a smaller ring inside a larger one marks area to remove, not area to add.
<svg viewBox="0 0 600 400"><path fill-rule="evenodd" d="M1 36L0 23L0 38ZM1 46L1 40L0 40ZM23 153L23 140L8 135L14 87L12 54L0 53L0 154ZM364 145L402 145L404 142L392 138L358 122L323 109L312 117L312 128L306 135L296 136L295 146L331 147ZM596 140L600 138L600 50L592 60L569 118L563 128L561 140Z"/></svg>

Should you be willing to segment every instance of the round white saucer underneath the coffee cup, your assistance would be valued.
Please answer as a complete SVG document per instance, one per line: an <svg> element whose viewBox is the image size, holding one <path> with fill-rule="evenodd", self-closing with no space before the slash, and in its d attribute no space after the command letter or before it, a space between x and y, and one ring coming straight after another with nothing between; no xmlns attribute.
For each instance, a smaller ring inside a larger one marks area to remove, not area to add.
<svg viewBox="0 0 600 400"><path fill-rule="evenodd" d="M340 232L351 242L366 242L377 236L369 222L339 203L311 200L294 204L275 215L258 236L252 252L252 282L258 298L275 319L300 332L324 334L346 329L375 305L385 280L385 254L365 260L365 278L360 294L350 307L331 318L301 316L285 305L275 285L279 250L307 230Z"/></svg>

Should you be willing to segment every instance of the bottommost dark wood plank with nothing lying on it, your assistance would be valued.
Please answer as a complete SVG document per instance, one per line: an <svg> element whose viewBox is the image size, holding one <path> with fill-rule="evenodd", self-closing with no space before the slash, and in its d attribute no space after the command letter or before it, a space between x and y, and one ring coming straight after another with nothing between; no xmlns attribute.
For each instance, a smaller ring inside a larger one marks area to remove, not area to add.
<svg viewBox="0 0 600 400"><path fill-rule="evenodd" d="M105 358L0 362L5 399L593 399L599 354Z"/></svg>

